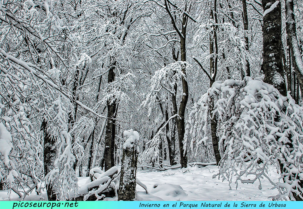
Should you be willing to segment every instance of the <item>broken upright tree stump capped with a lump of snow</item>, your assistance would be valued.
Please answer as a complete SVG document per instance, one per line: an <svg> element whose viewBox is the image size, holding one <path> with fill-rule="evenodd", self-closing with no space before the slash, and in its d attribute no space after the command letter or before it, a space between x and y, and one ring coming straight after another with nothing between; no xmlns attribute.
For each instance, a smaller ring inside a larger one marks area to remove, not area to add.
<svg viewBox="0 0 303 209"><path fill-rule="evenodd" d="M126 140L123 144L118 200L131 201L135 200L136 194L139 133L130 129L123 132L123 137Z"/></svg>

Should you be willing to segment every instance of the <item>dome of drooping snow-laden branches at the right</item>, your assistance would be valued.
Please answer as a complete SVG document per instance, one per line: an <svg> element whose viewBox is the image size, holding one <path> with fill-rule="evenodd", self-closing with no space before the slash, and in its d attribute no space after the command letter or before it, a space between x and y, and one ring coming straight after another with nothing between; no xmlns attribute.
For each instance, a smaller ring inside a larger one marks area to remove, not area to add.
<svg viewBox="0 0 303 209"><path fill-rule="evenodd" d="M217 81L189 115L185 146L190 136L192 149L207 139L210 99L215 104L219 143L225 148L219 178L259 181L260 189L261 179L267 178L279 191L274 200L302 198L303 108L289 94L282 96L272 85L251 77ZM269 165L277 168L278 180L268 175Z"/></svg>

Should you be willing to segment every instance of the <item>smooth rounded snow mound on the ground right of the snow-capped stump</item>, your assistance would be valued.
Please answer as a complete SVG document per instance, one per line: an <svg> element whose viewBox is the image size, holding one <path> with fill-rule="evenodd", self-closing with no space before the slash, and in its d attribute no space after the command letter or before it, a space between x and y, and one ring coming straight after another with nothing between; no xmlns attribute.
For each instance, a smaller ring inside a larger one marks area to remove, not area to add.
<svg viewBox="0 0 303 209"><path fill-rule="evenodd" d="M184 198L187 196L187 194L180 185L173 184L158 185L150 193L158 197L170 196L169 199L171 199L172 201L184 200Z"/></svg>

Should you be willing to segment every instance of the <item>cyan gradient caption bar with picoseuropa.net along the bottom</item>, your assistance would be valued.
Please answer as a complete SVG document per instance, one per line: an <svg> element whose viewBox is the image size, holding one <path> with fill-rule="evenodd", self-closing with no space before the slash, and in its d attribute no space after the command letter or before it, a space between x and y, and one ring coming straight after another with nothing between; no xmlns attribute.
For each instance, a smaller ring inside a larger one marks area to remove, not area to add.
<svg viewBox="0 0 303 209"><path fill-rule="evenodd" d="M303 208L303 201L0 201L0 209Z"/></svg>

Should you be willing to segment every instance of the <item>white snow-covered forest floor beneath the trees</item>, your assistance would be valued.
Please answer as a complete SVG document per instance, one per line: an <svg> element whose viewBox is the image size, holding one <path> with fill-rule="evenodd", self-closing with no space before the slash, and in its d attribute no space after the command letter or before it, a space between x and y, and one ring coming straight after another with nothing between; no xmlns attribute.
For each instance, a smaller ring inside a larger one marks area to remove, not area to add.
<svg viewBox="0 0 303 209"><path fill-rule="evenodd" d="M254 184L238 183L236 189L235 180L230 184L227 180L221 181L217 177L218 167L208 165L203 168L189 167L186 169L173 169L167 171L150 171L149 169L138 168L137 178L147 186L148 193L137 185L137 200L139 201L271 201L270 196L278 194L267 179L261 180L262 189L259 190L259 182ZM269 176L275 182L278 174L274 167L269 169ZM88 177L78 177L78 185L84 185ZM8 200L8 191L0 191L0 200ZM27 201L46 199L46 194L40 196L32 192L25 198ZM10 200L21 200L18 195L12 192ZM106 200L115 200L106 198Z"/></svg>

